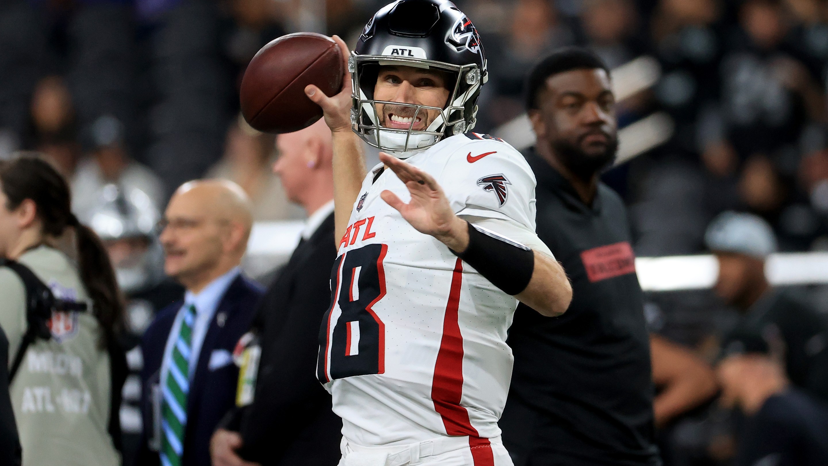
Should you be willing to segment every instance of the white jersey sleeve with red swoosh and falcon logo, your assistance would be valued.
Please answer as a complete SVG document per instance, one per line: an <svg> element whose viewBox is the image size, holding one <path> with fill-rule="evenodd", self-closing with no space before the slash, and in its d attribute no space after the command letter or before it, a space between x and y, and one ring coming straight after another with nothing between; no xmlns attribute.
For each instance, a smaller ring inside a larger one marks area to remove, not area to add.
<svg viewBox="0 0 828 466"><path fill-rule="evenodd" d="M535 175L507 143L487 140L455 149L440 178L458 216L514 221L535 231Z"/></svg>

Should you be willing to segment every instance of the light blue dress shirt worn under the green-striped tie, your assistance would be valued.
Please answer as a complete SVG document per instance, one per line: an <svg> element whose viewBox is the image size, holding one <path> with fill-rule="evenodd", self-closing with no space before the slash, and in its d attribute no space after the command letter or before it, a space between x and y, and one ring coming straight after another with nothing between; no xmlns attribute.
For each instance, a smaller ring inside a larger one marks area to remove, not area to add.
<svg viewBox="0 0 828 466"><path fill-rule="evenodd" d="M164 348L164 358L161 360L161 386L166 386L166 375L169 371L170 361L172 359L172 347L178 340L178 335L181 333L181 321L184 320L184 314L187 306L192 304L195 306L195 322L192 328L192 337L190 338L190 373L188 376L190 380L193 379L195 367L198 365L201 345L205 341L209 323L213 321L213 315L216 308L219 307L221 299L224 298L224 293L229 288L233 280L241 273L239 267L233 267L229 272L214 279L198 294L192 293L190 290L184 295L184 305L178 310L176 320L172 323L170 335L166 338L166 347Z"/></svg>

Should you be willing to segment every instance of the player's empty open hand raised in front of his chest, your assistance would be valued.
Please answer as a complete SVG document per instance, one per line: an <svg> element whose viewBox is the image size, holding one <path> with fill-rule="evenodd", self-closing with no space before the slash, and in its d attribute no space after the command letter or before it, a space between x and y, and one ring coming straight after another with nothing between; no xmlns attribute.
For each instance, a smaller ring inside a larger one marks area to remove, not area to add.
<svg viewBox="0 0 828 466"><path fill-rule="evenodd" d="M412 196L411 201L405 203L393 192L385 190L380 193L383 201L397 209L416 231L432 235L450 249L463 252L469 245L469 227L455 215L449 198L434 177L387 153L379 153L379 159L405 183Z"/></svg>

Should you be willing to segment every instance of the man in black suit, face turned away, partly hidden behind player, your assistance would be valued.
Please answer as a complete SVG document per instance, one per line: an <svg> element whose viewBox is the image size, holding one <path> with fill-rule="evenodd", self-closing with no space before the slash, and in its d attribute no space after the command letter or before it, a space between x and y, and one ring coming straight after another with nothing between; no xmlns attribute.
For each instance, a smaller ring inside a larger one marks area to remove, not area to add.
<svg viewBox="0 0 828 466"><path fill-rule="evenodd" d="M210 444L215 466L335 466L342 421L316 380L322 315L330 305L334 240L333 158L323 121L279 135L273 167L309 214L291 259L267 289L253 323L261 360L250 404L233 410ZM243 398L241 396L240 398ZM251 463L255 462L255 463Z"/></svg>

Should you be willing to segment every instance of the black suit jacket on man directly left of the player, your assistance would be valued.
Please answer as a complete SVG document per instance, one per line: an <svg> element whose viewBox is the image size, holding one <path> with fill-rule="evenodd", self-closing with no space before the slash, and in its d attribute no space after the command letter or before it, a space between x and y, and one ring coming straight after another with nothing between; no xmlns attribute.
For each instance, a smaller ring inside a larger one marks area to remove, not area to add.
<svg viewBox="0 0 828 466"><path fill-rule="evenodd" d="M229 415L244 459L263 466L335 466L342 420L316 380L322 315L336 259L334 215L302 241L267 289L256 317L262 345L253 403Z"/></svg>

